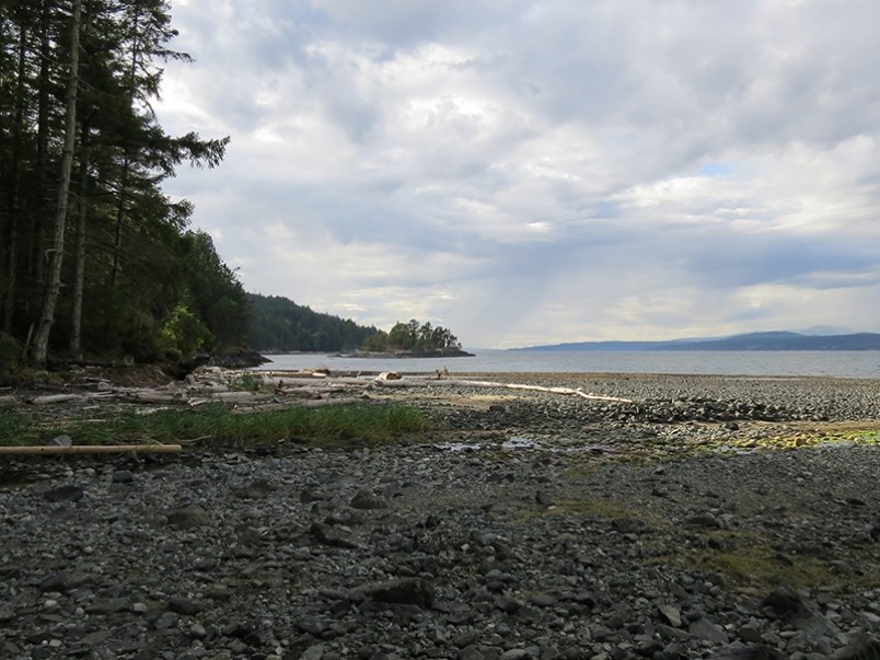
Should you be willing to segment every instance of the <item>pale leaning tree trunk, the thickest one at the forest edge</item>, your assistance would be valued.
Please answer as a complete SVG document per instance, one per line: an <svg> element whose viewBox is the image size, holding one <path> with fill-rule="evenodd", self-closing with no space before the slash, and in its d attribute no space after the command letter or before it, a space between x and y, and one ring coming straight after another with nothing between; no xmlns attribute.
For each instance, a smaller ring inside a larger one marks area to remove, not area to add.
<svg viewBox="0 0 880 660"><path fill-rule="evenodd" d="M65 147L61 153L61 173L58 182L58 204L55 212L55 232L49 253L48 280L43 312L39 315L37 334L34 338L31 357L37 364L46 363L49 348L49 334L55 321L55 305L61 291L61 264L65 256L65 225L70 198L70 173L73 169L73 147L77 139L77 88L80 68L80 20L82 0L73 0L70 20L70 74L67 81L67 109L65 124Z"/></svg>

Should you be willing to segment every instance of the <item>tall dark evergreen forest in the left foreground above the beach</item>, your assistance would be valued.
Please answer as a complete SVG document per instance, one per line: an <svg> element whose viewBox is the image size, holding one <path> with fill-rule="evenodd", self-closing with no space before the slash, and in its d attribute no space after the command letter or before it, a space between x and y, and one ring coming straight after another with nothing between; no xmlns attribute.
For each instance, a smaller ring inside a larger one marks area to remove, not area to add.
<svg viewBox="0 0 880 660"><path fill-rule="evenodd" d="M161 0L0 3L0 349L137 360L246 343L247 298L162 183L229 138L170 136L152 103L188 61ZM0 356L3 352L0 350Z"/></svg>

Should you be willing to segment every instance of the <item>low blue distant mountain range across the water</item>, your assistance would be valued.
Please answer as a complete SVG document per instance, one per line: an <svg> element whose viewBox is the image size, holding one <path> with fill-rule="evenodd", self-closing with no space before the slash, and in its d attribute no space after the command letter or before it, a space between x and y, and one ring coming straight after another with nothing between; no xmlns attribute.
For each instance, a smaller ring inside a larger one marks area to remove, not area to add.
<svg viewBox="0 0 880 660"><path fill-rule="evenodd" d="M786 331L668 341L576 341L510 350L880 350L880 334L802 335Z"/></svg>

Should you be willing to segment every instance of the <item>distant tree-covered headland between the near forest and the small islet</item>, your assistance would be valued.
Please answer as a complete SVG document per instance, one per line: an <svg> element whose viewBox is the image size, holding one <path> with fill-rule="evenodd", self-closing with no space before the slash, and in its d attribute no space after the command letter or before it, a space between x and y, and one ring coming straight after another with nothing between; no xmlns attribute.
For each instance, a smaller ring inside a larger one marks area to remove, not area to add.
<svg viewBox="0 0 880 660"><path fill-rule="evenodd" d="M280 296L248 293L251 348L263 352L293 350L351 350L375 335L372 326L358 325Z"/></svg>

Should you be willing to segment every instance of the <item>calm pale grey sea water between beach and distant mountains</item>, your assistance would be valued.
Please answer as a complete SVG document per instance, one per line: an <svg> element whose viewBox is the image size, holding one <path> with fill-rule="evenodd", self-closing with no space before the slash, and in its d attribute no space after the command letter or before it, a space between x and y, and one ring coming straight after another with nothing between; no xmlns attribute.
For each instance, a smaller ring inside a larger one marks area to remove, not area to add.
<svg viewBox="0 0 880 660"><path fill-rule="evenodd" d="M473 358L362 359L324 354L267 355L259 369L327 367L333 371L704 373L743 375L832 375L880 379L880 351L508 351L472 350Z"/></svg>

